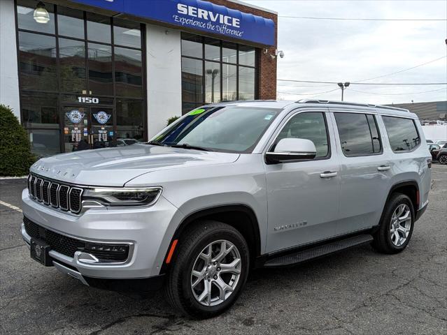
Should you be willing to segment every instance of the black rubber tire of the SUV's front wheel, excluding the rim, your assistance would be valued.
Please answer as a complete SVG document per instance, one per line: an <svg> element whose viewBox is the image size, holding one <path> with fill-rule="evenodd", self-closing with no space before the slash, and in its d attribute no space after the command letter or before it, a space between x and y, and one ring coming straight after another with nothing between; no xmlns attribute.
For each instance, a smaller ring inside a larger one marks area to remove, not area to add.
<svg viewBox="0 0 447 335"><path fill-rule="evenodd" d="M194 297L191 288L191 273L199 253L213 241L225 239L236 246L241 256L241 274L233 292L217 306L204 306ZM246 240L231 225L218 221L200 221L194 223L178 239L178 248L166 283L166 295L169 302L192 318L212 318L226 311L238 299L247 281L250 255ZM172 262L172 261L171 261Z"/></svg>

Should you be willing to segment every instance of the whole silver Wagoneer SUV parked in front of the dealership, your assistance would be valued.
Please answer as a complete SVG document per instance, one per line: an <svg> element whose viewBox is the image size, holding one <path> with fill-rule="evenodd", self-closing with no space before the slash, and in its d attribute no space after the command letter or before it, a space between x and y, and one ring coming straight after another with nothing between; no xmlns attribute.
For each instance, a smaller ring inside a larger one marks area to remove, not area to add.
<svg viewBox="0 0 447 335"><path fill-rule="evenodd" d="M132 146L43 158L22 193L31 258L106 288L222 313L248 271L360 244L399 253L428 203L416 114L333 101L192 110Z"/></svg>

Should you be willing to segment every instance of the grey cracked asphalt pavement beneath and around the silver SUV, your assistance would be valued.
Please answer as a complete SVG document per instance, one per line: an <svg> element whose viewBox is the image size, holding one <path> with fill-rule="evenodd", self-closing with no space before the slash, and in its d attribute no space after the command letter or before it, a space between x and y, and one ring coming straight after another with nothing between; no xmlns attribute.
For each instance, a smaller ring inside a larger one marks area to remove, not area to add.
<svg viewBox="0 0 447 335"><path fill-rule="evenodd" d="M447 334L447 166L432 166L430 205L409 246L370 246L250 274L239 301L191 320L162 292L89 288L29 258L20 237L25 179L0 180L1 334Z"/></svg>

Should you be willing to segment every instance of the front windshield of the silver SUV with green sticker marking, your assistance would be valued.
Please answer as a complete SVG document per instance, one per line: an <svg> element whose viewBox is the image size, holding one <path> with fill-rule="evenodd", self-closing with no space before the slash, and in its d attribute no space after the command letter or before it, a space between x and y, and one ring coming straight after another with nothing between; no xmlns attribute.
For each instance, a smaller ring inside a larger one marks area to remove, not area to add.
<svg viewBox="0 0 447 335"><path fill-rule="evenodd" d="M251 152L279 112L281 109L260 107L202 107L189 112L150 143Z"/></svg>

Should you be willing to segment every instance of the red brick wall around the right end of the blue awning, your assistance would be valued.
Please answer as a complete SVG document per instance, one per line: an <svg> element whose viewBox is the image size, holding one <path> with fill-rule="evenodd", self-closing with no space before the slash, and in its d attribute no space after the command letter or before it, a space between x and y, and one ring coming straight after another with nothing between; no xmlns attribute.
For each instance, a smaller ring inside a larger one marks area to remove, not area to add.
<svg viewBox="0 0 447 335"><path fill-rule="evenodd" d="M251 13L274 20L275 22L275 45L269 47L268 54L264 54L264 49L260 49L259 59L259 91L258 98L260 99L276 99L276 58L271 59L270 54L275 54L276 45L278 45L278 15L274 13L265 12L250 6L243 6L240 3L234 3L227 0L210 0L216 5L222 5L227 8L241 10L241 12Z"/></svg>

